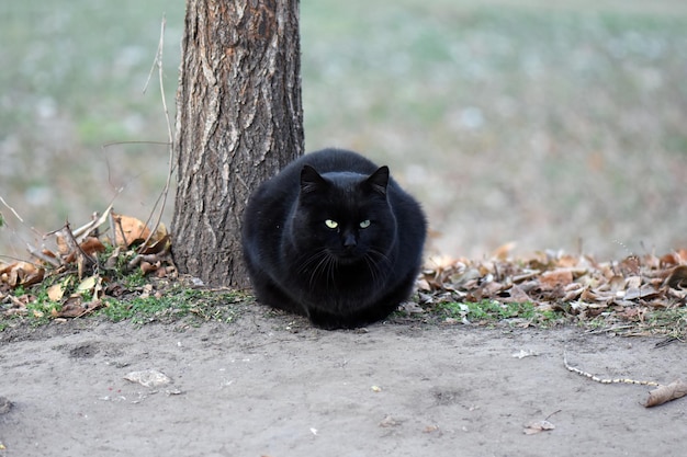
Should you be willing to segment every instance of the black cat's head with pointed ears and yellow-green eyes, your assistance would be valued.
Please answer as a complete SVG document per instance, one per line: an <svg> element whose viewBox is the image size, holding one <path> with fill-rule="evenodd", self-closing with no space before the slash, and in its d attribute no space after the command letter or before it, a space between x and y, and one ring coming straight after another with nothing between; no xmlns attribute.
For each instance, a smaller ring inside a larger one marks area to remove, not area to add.
<svg viewBox="0 0 687 457"><path fill-rule="evenodd" d="M386 259L396 239L388 183L387 167L361 175L319 174L304 165L291 233L294 244L305 251L303 254L319 255L337 264Z"/></svg>

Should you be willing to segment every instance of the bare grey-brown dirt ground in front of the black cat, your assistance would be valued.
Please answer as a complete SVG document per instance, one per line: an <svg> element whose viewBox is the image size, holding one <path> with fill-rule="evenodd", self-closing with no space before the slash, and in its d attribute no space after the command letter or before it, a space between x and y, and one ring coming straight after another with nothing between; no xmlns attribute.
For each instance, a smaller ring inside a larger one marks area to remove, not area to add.
<svg viewBox="0 0 687 457"><path fill-rule="evenodd" d="M581 329L381 323L261 308L180 329L98 319L0 332L0 456L684 455L687 400L601 377L687 376L687 346ZM156 369L171 381L124 377ZM0 401L2 403L2 401ZM525 434L529 423L553 430Z"/></svg>

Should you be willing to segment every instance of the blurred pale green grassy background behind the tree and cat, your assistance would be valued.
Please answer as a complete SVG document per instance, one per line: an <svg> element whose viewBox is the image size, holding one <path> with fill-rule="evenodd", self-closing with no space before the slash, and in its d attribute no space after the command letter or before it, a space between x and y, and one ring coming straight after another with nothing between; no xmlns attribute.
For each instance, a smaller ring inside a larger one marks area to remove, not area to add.
<svg viewBox="0 0 687 457"><path fill-rule="evenodd" d="M169 158L157 72L144 88L165 14L173 124L183 10L2 2L0 196L23 222L0 202L0 254L115 197L149 216ZM687 247L684 0L303 0L301 32L306 150L388 164L431 253Z"/></svg>

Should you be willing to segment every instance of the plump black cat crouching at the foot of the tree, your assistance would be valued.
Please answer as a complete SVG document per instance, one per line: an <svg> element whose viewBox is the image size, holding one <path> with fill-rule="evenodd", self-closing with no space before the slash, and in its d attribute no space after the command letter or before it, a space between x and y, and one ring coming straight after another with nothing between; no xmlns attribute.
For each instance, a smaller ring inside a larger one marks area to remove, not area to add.
<svg viewBox="0 0 687 457"><path fill-rule="evenodd" d="M356 328L384 319L410 295L426 226L387 167L325 149L251 195L244 258L259 301L324 329Z"/></svg>

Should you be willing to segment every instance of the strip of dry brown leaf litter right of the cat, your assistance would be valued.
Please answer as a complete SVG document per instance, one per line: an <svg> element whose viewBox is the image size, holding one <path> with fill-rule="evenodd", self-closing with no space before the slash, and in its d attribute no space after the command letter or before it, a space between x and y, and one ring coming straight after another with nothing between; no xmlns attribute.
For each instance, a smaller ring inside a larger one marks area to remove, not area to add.
<svg viewBox="0 0 687 457"><path fill-rule="evenodd" d="M487 304L497 318L521 327L558 316L590 329L682 339L687 331L687 250L610 262L553 251L509 259L507 250L488 260L435 259L421 273L418 293L426 311L453 305L458 316L447 317L446 323L493 323L469 319L471 304ZM533 312L525 319L508 316L518 309L514 305Z"/></svg>

